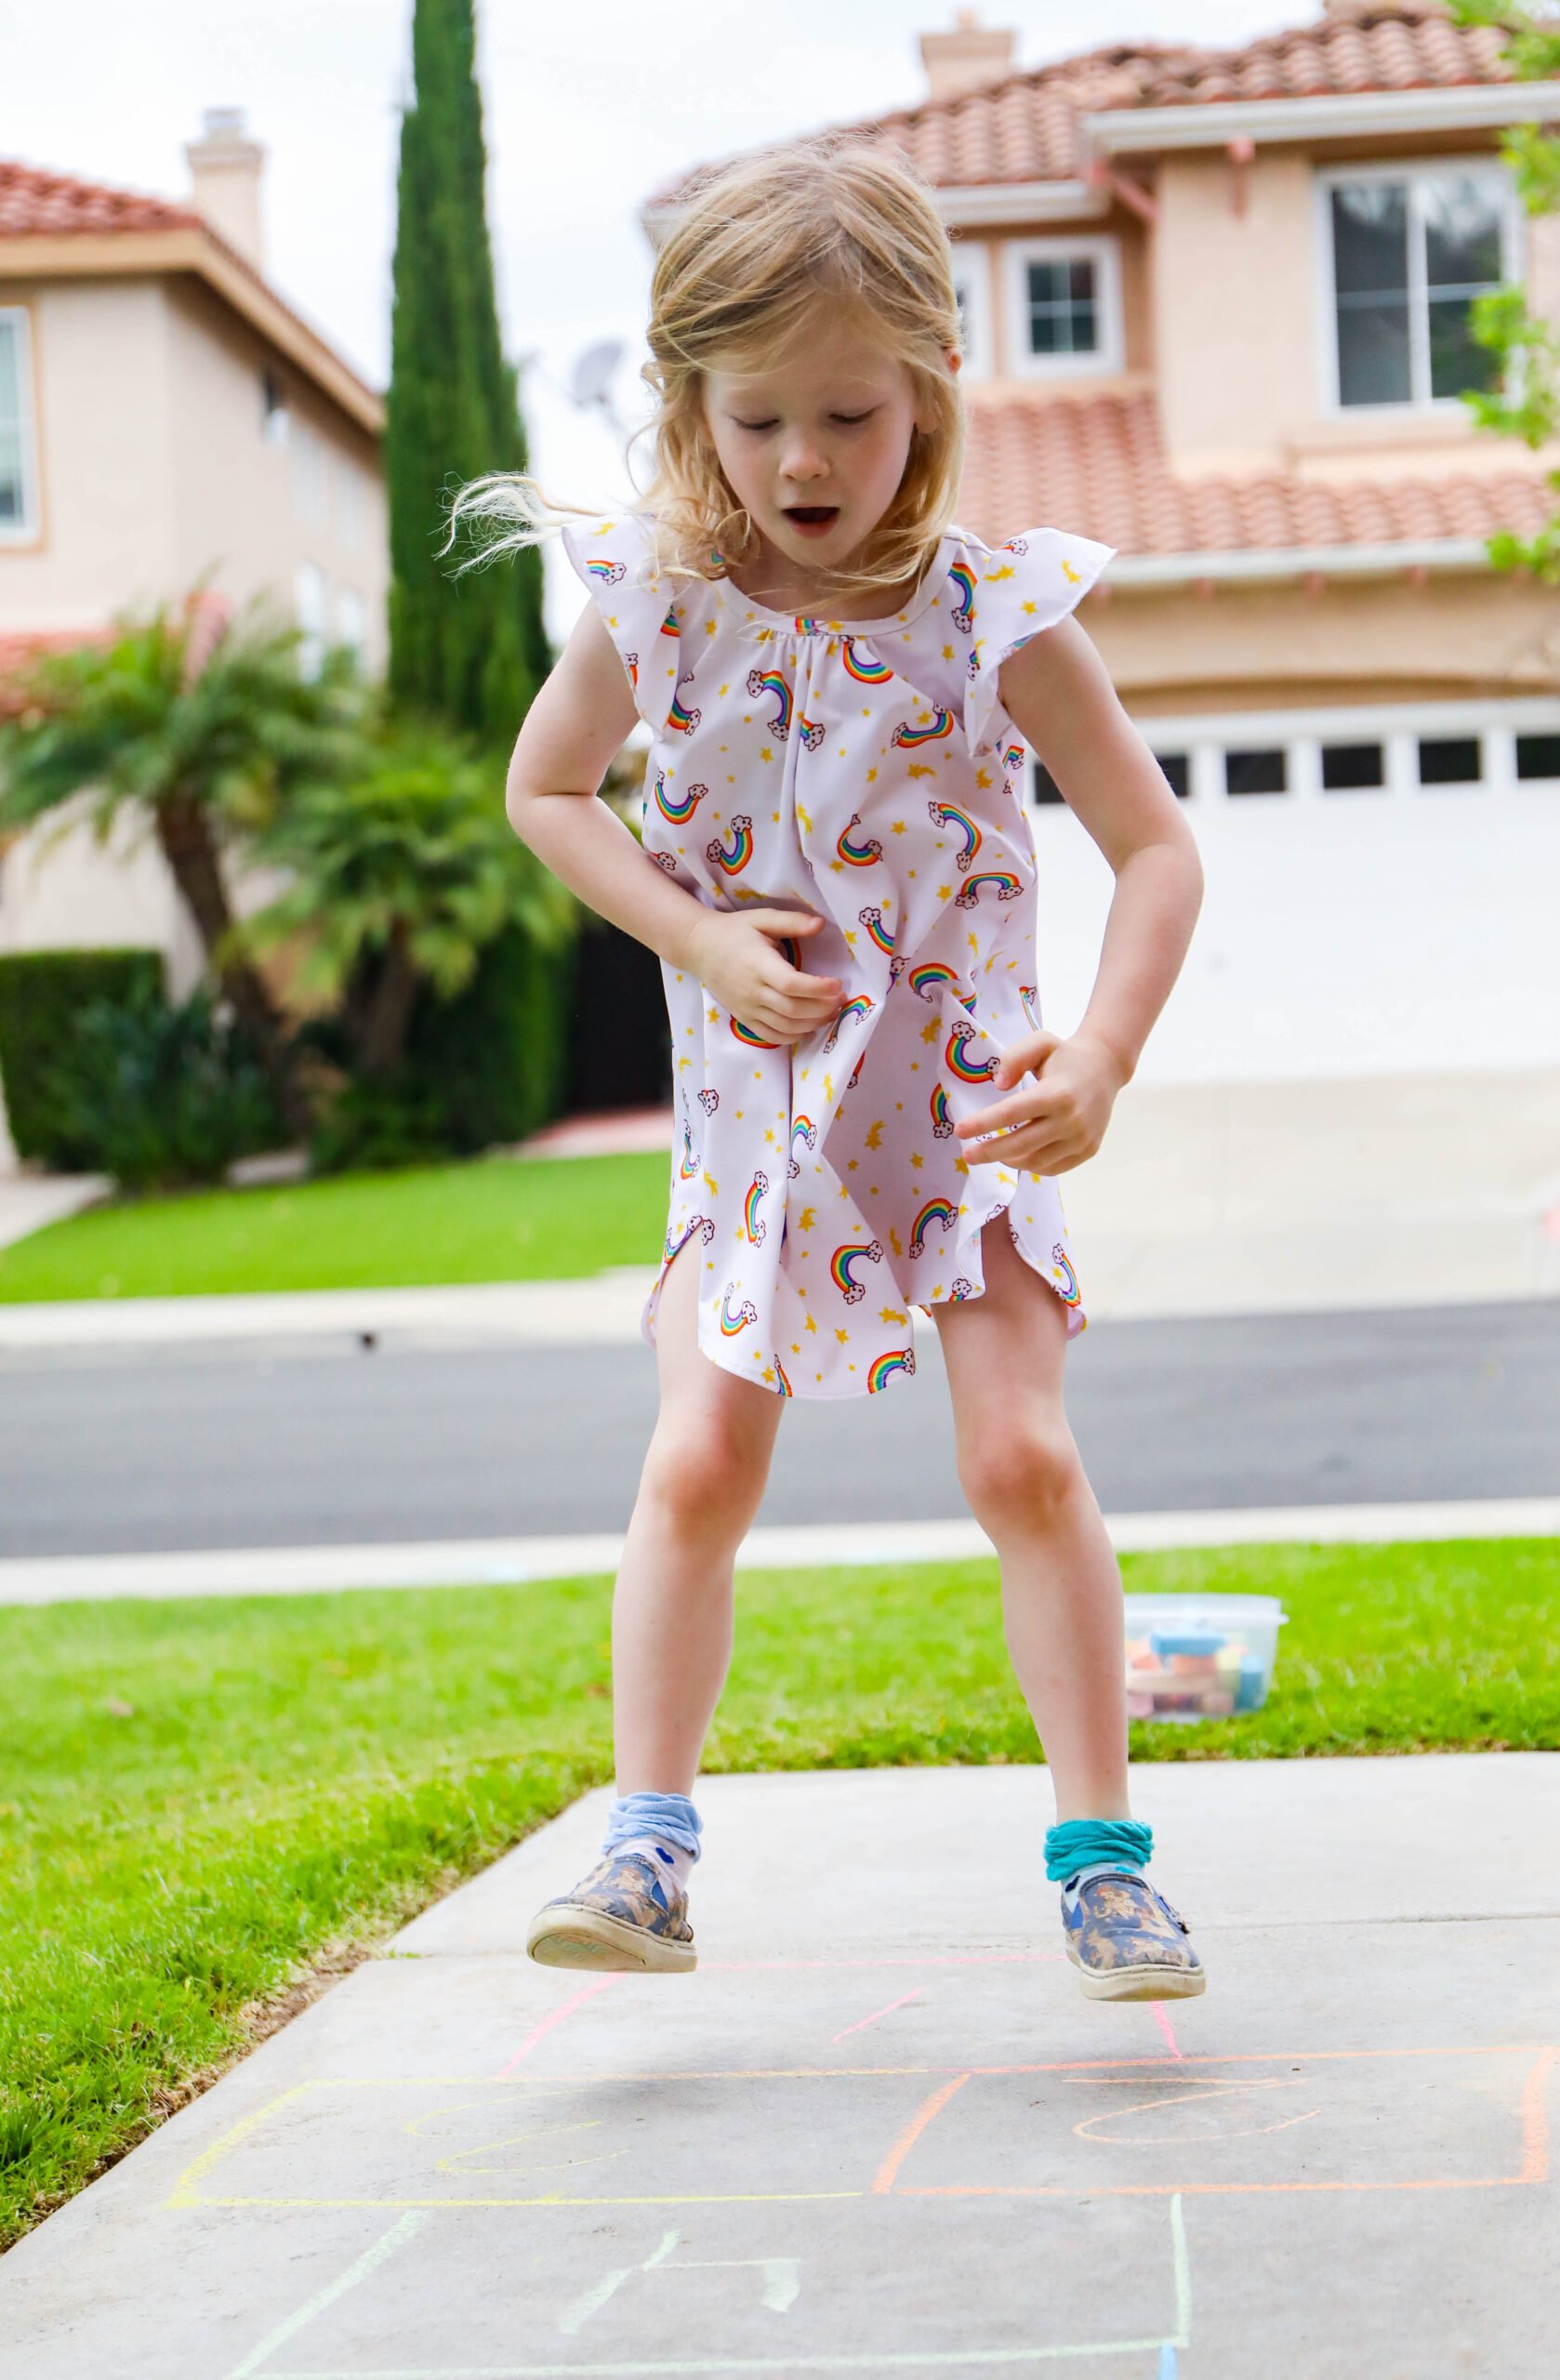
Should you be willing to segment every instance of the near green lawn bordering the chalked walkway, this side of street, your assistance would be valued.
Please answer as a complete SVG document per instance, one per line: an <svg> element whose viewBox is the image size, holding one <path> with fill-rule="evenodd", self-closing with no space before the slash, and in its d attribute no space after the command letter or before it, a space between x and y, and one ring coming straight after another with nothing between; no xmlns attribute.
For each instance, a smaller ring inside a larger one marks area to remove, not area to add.
<svg viewBox="0 0 1560 2380"><path fill-rule="evenodd" d="M1262 1711L1136 1723L1138 1761L1560 1749L1550 1540L1122 1568L1291 1614ZM605 1578L0 1609L0 2242L241 2054L257 2002L610 1780L607 1628ZM707 1771L1031 1759L996 1564L741 1576ZM1041 1930L1048 1818L1041 1790Z"/></svg>

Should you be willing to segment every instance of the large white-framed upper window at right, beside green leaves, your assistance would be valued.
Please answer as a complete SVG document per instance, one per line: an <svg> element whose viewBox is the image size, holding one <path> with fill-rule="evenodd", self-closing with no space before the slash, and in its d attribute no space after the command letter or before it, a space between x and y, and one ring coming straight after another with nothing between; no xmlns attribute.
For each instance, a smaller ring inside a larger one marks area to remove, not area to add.
<svg viewBox="0 0 1560 2380"><path fill-rule="evenodd" d="M1324 183L1334 402L1436 405L1491 388L1472 302L1517 278L1510 183L1489 167L1422 167Z"/></svg>

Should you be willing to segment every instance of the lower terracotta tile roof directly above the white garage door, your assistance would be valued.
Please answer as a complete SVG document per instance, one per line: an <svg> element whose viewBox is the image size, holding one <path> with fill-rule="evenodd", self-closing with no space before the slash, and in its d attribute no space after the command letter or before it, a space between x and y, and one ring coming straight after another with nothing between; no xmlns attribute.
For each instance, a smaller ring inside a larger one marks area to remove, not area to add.
<svg viewBox="0 0 1560 2380"><path fill-rule="evenodd" d="M1122 555L1419 545L1486 538L1493 528L1531 536L1550 512L1536 469L1177 478L1150 390L972 402L960 490L960 524L993 543L1053 521Z"/></svg>

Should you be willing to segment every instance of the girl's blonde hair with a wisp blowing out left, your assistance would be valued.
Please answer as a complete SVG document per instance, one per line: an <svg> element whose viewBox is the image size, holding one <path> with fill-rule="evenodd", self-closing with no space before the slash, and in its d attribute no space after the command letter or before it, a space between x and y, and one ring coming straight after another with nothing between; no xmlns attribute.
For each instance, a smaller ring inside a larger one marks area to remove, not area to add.
<svg viewBox="0 0 1560 2380"><path fill-rule="evenodd" d="M695 176L655 259L641 376L657 402L638 438L653 450L641 502L662 571L719 578L757 550L715 455L705 374L765 369L819 305L843 309L907 369L917 414L931 424L912 428L896 497L857 564L819 569L822 590L843 609L845 595L898 588L931 559L965 459L965 409L948 369L948 350L962 347L948 233L931 188L898 152L860 133L822 133ZM491 474L453 500L450 540L460 524L479 536L493 528L474 557L483 562L536 545L586 509L595 507L553 502L533 478Z"/></svg>

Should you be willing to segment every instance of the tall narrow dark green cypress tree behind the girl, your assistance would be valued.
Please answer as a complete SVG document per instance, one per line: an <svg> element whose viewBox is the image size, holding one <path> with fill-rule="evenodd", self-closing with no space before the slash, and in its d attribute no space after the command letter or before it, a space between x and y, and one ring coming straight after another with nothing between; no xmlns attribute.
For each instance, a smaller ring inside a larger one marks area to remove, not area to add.
<svg viewBox="0 0 1560 2380"><path fill-rule="evenodd" d="M507 745L550 666L541 557L453 581L438 555L450 488L526 469L493 295L474 0L414 0L412 71L386 402L388 676L398 702Z"/></svg>

